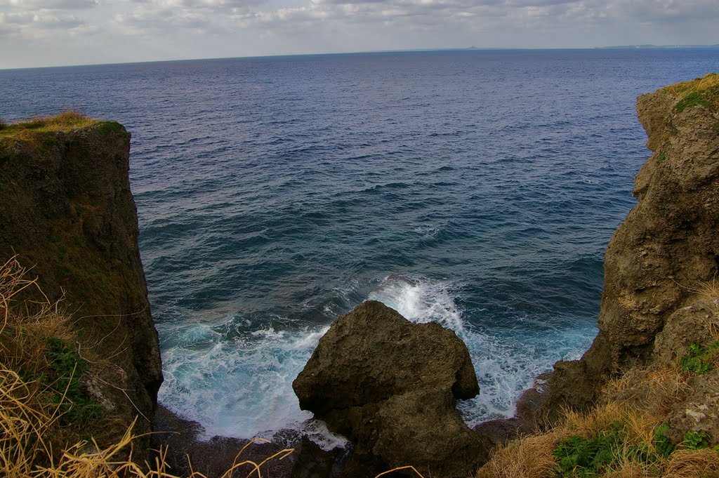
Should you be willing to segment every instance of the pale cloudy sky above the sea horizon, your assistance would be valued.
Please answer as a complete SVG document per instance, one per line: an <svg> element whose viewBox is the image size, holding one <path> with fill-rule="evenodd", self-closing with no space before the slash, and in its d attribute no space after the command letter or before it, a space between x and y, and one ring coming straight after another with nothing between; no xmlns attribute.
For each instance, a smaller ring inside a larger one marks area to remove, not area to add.
<svg viewBox="0 0 719 478"><path fill-rule="evenodd" d="M0 68L719 43L719 0L0 0Z"/></svg>

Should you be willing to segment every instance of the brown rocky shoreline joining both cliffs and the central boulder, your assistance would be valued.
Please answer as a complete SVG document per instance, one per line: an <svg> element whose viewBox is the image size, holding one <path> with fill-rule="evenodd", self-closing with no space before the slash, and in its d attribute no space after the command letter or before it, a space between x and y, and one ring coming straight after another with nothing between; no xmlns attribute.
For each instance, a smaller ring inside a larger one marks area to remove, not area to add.
<svg viewBox="0 0 719 478"><path fill-rule="evenodd" d="M466 477L498 446L551 430L567 409L608 401L651 408L661 398L652 377L672 367L686 386L656 418L663 437L672 446L687 436L716 446L719 75L640 96L637 112L653 154L636 176L638 204L605 254L597 338L582 359L557 362L539 377L516 418L474 430L455 408L480 392L466 346L436 323L410 323L374 301L334 321L293 384L301 408L352 441L347 451L321 451L283 431L238 457L248 441L203 441L198 423L158 405L160 352L129 191L129 134L111 121L73 116L62 127L11 126L17 133L0 137L0 255L17 255L31 268L46 299L64 297L78 318L78 346L104 358L83 374L83 387L104 410L104 440L139 417L134 456L142 461L167 449L178 474L221 476L238 460L293 448L261 471L354 478L411 464L425 477ZM609 390L616 377L624 377L622 387Z"/></svg>

